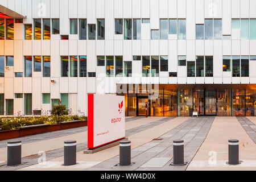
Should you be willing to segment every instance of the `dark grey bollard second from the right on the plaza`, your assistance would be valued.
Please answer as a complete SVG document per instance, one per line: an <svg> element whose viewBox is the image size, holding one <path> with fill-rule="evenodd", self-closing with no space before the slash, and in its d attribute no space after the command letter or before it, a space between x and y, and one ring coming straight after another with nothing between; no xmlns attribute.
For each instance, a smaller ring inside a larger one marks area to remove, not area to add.
<svg viewBox="0 0 256 182"><path fill-rule="evenodd" d="M184 140L174 140L174 166L184 165Z"/></svg>

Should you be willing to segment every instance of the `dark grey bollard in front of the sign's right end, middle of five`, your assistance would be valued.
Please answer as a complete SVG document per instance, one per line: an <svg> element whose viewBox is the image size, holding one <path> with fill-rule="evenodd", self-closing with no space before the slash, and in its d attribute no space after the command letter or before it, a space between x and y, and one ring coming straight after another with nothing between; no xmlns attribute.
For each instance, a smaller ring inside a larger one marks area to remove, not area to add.
<svg viewBox="0 0 256 182"><path fill-rule="evenodd" d="M120 166L131 165L131 141L121 141L119 151Z"/></svg>

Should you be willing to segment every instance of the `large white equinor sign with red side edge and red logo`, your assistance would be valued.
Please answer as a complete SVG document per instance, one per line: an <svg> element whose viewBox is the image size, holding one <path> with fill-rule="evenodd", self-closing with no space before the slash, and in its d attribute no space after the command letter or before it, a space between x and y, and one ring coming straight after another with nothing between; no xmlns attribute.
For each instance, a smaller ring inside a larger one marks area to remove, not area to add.
<svg viewBox="0 0 256 182"><path fill-rule="evenodd" d="M125 97L88 94L88 148L125 138Z"/></svg>

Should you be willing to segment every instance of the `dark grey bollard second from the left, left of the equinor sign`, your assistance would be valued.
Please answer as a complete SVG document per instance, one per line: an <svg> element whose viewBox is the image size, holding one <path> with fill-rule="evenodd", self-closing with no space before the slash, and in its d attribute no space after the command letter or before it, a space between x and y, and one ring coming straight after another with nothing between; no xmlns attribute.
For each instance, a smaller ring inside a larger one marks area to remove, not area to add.
<svg viewBox="0 0 256 182"><path fill-rule="evenodd" d="M64 142L64 166L76 164L76 141Z"/></svg>

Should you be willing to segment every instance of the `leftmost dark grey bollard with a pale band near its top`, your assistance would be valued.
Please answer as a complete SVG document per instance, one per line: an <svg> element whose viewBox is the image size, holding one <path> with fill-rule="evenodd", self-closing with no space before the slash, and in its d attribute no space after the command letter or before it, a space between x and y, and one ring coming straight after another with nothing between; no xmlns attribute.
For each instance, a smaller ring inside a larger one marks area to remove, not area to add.
<svg viewBox="0 0 256 182"><path fill-rule="evenodd" d="M21 141L7 142L7 166L21 164Z"/></svg>

